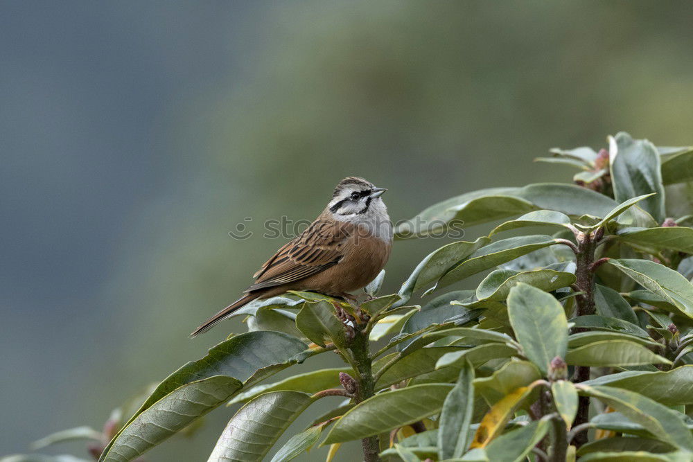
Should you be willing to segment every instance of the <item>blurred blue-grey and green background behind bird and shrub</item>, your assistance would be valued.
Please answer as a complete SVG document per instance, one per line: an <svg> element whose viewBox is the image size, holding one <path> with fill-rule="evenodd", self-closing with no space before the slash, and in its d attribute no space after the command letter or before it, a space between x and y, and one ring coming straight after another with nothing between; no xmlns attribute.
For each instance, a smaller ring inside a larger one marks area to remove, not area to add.
<svg viewBox="0 0 693 462"><path fill-rule="evenodd" d="M396 221L569 181L532 163L554 146L693 143L691 17L689 1L3 1L0 454L100 428L244 330L188 339L283 244L262 223L312 220L342 177L389 188ZM254 236L232 239L238 223ZM396 243L385 290L439 245ZM206 460L233 411L146 459Z"/></svg>

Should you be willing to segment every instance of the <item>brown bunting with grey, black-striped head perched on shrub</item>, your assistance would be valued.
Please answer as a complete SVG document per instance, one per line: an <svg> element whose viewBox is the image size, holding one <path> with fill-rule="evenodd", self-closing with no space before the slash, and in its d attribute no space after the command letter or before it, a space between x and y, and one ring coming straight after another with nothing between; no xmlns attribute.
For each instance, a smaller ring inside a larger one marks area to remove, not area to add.
<svg viewBox="0 0 693 462"><path fill-rule="evenodd" d="M392 249L392 222L380 197L385 191L360 177L342 179L315 221L260 267L240 299L204 321L191 337L255 299L289 290L353 300L349 292L373 281Z"/></svg>

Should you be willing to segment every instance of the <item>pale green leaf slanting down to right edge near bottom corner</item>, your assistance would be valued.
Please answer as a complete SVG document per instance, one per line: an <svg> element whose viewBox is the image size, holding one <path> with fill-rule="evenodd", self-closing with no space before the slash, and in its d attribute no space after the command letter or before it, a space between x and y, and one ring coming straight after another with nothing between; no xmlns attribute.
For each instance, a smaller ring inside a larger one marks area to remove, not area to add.
<svg viewBox="0 0 693 462"><path fill-rule="evenodd" d="M672 411L649 398L613 387L590 387L581 384L580 393L593 396L606 402L609 406L624 414L635 423L639 423L662 441L676 447L690 450L693 448L693 436L683 424L676 411Z"/></svg>

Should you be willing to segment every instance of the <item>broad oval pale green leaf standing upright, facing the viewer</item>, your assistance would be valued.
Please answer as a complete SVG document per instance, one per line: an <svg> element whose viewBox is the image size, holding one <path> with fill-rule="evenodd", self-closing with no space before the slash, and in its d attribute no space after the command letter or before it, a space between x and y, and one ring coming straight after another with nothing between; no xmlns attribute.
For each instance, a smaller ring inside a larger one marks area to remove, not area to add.
<svg viewBox="0 0 693 462"><path fill-rule="evenodd" d="M520 283L510 290L508 315L525 356L545 375L554 357L565 357L568 321L554 297Z"/></svg>

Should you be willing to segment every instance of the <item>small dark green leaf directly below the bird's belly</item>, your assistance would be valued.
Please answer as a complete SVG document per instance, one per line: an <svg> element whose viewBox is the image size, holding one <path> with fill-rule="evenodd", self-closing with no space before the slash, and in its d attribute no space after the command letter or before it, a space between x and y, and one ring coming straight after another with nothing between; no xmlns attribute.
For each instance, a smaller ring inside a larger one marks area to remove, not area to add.
<svg viewBox="0 0 693 462"><path fill-rule="evenodd" d="M337 318L334 305L328 301L304 303L296 315L296 326L319 346L330 341L340 348L347 345L344 323Z"/></svg>

